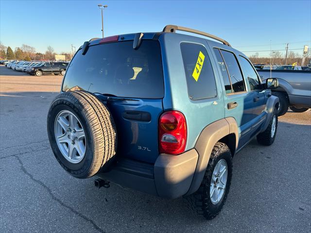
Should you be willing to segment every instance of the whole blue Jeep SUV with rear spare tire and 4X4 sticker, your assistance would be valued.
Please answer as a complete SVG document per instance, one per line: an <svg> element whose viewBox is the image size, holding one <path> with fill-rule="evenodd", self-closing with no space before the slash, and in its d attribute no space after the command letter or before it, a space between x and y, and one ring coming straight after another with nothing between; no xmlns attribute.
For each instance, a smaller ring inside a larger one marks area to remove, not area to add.
<svg viewBox="0 0 311 233"><path fill-rule="evenodd" d="M261 83L225 40L190 28L94 38L52 101L50 144L74 177L183 196L211 219L228 194L232 157L255 137L266 146L275 140L277 85Z"/></svg>

